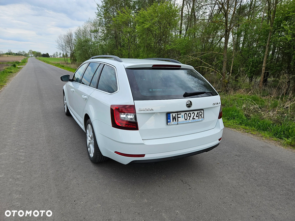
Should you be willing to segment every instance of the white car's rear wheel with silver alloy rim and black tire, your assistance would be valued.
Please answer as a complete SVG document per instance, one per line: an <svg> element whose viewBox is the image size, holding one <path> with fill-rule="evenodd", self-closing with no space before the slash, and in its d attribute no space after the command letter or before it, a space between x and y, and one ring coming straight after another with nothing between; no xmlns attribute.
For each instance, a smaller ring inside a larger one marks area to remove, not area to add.
<svg viewBox="0 0 295 221"><path fill-rule="evenodd" d="M92 163L101 163L108 158L103 156L98 148L91 120L86 122L86 147Z"/></svg>

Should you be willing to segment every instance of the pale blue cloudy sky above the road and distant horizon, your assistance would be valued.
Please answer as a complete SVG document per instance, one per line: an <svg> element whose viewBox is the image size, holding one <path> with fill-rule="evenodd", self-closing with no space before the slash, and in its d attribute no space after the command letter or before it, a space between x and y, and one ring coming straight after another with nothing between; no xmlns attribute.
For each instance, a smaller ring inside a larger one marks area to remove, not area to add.
<svg viewBox="0 0 295 221"><path fill-rule="evenodd" d="M95 18L100 0L0 0L0 51L53 55L56 39Z"/></svg>

